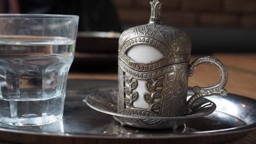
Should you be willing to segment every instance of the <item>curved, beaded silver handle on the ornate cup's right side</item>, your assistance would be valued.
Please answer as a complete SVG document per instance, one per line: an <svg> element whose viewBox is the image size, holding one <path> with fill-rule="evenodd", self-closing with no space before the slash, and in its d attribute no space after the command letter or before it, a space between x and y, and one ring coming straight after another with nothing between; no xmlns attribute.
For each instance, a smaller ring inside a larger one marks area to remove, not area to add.
<svg viewBox="0 0 256 144"><path fill-rule="evenodd" d="M228 82L228 71L226 70L225 65L220 62L219 59L212 57L202 57L196 59L193 63L189 65L188 75L193 76L196 67L203 63L210 63L219 68L221 75L220 82L212 87L195 86L193 88L193 92L195 94L187 102L188 113L192 112L191 106L195 103L196 100L200 98L208 97L214 94L220 94L223 97L228 95L228 91L224 88L226 86L226 83Z"/></svg>

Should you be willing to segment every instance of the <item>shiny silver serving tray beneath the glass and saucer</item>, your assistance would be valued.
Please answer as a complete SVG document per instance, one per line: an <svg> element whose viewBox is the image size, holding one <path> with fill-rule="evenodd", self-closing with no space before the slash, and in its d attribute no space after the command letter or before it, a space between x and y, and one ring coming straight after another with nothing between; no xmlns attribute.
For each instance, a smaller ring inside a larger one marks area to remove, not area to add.
<svg viewBox="0 0 256 144"><path fill-rule="evenodd" d="M92 92L116 89L117 86L117 81L69 80L61 122L40 127L13 127L0 123L0 140L22 143L215 143L235 139L256 127L256 100L235 94L208 97L216 103L217 110L206 117L188 119L182 129L121 127L112 116L92 110L84 101ZM192 94L191 89L189 93Z"/></svg>

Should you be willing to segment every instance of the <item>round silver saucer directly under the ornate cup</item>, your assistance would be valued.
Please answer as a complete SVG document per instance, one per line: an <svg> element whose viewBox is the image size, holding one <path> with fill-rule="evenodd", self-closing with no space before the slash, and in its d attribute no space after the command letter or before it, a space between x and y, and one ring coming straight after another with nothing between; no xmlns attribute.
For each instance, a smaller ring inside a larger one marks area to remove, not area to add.
<svg viewBox="0 0 256 144"><path fill-rule="evenodd" d="M114 119L121 125L129 125L137 128L145 129L167 129L178 128L183 125L186 119L198 118L210 115L216 110L216 104L211 100L202 98L196 101L192 107L189 115L176 117L159 117L150 115L138 116L138 113L131 113L131 115L124 115L117 111L118 90L109 89L98 91L86 97L85 102L88 106L96 111L112 115ZM137 111L136 111L137 112Z"/></svg>

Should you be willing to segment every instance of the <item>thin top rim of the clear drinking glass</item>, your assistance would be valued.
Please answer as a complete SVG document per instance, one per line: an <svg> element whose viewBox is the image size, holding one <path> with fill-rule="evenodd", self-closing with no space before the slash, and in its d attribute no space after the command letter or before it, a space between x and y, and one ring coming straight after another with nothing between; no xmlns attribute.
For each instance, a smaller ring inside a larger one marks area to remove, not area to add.
<svg viewBox="0 0 256 144"><path fill-rule="evenodd" d="M0 14L0 19L75 19L78 15L52 15L52 14Z"/></svg>

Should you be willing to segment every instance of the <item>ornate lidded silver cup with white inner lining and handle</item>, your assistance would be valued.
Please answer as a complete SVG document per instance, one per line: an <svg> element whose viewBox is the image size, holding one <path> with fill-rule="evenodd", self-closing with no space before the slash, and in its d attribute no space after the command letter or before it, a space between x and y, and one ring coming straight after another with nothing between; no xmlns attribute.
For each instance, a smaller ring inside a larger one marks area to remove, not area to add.
<svg viewBox="0 0 256 144"><path fill-rule="evenodd" d="M132 116L177 117L191 113L196 100L213 94L227 95L228 80L222 62L202 57L190 62L191 43L183 31L161 25L161 5L150 2L147 25L127 29L119 40L118 113ZM221 80L212 87L194 87L187 101L188 77L202 63L219 68Z"/></svg>

